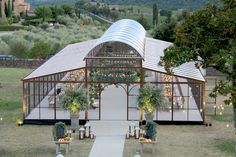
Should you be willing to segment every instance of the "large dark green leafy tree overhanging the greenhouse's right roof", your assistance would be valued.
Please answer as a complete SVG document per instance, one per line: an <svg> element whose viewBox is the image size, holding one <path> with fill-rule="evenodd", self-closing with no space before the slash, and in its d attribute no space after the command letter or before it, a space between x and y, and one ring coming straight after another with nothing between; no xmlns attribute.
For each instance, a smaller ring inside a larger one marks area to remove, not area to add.
<svg viewBox="0 0 236 157"><path fill-rule="evenodd" d="M236 1L222 0L223 6L207 5L178 24L173 46L167 48L159 64L171 72L172 67L196 61L196 67L214 67L227 76L219 83L216 95L231 96L236 127Z"/></svg>

